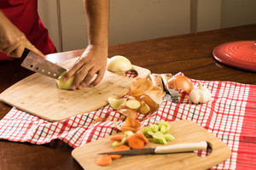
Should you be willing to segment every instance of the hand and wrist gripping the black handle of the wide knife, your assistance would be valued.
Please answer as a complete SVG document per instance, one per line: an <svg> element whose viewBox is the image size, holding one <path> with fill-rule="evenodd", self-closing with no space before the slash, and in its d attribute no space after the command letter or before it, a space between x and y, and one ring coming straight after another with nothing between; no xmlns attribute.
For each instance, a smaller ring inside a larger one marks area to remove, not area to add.
<svg viewBox="0 0 256 170"><path fill-rule="evenodd" d="M0 51L12 58L20 58L25 48L45 59L44 54L32 45L9 19L0 11Z"/></svg>

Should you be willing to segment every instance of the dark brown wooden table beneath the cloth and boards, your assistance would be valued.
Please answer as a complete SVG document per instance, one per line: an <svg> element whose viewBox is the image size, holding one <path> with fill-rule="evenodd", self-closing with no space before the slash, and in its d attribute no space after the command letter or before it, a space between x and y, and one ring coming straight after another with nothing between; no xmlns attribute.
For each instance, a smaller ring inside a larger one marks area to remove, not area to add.
<svg viewBox="0 0 256 170"><path fill-rule="evenodd" d="M224 42L256 40L256 24L215 31L163 37L140 42L109 46L109 57L121 54L133 65L148 68L152 73L182 71L185 76L198 80L219 80L256 84L256 73L241 71L218 63L212 50ZM48 59L61 62L78 57L83 52L74 50L50 54ZM32 74L20 67L21 60L0 62L0 93L15 82ZM11 107L0 102L0 119ZM0 169L82 169L71 156L73 150L61 140L35 145L0 140Z"/></svg>

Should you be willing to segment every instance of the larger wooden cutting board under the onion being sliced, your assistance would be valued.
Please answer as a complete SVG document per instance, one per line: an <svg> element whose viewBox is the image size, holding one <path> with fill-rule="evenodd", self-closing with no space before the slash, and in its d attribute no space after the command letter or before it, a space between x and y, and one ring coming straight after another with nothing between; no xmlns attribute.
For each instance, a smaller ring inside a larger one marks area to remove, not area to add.
<svg viewBox="0 0 256 170"><path fill-rule="evenodd" d="M77 60L70 59L60 65L69 68ZM133 65L137 77L148 77L150 71ZM0 94L3 103L15 106L49 122L57 122L70 116L95 111L108 104L112 95L124 96L133 78L106 71L102 82L94 88L63 90L56 87L55 79L38 73L15 83Z"/></svg>

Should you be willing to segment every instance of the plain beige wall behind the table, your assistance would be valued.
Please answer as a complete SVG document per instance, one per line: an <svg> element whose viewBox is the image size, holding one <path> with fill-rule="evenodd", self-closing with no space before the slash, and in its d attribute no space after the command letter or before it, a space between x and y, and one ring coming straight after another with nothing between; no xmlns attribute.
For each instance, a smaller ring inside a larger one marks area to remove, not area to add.
<svg viewBox="0 0 256 170"><path fill-rule="evenodd" d="M60 0L63 51L85 48L83 0ZM256 23L255 0L110 0L109 44ZM38 0L38 12L60 51L56 0Z"/></svg>

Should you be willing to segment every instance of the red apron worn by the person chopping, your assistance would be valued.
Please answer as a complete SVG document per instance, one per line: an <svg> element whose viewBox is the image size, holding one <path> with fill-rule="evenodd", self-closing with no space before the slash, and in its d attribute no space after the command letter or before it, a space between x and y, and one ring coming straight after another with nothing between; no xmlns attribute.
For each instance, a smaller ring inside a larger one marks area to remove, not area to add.
<svg viewBox="0 0 256 170"><path fill-rule="evenodd" d="M38 16L38 0L1 0L0 9L43 54L56 52L48 31ZM0 60L11 59L0 52Z"/></svg>

